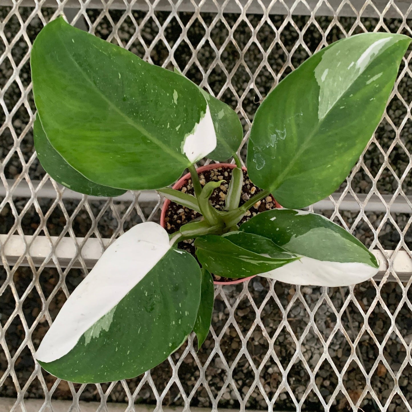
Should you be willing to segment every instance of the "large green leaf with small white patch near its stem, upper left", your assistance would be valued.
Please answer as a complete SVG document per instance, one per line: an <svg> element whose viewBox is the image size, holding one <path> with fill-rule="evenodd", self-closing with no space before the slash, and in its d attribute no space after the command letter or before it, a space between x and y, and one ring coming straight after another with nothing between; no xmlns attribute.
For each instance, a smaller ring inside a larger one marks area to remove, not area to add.
<svg viewBox="0 0 412 412"><path fill-rule="evenodd" d="M215 149L210 110L194 84L62 17L36 37L30 63L47 138L95 183L158 189Z"/></svg>

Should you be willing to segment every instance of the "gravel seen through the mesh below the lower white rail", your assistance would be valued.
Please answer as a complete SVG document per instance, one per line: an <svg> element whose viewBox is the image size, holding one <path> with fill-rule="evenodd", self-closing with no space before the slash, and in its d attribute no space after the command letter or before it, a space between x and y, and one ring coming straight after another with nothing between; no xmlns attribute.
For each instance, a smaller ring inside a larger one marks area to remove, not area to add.
<svg viewBox="0 0 412 412"><path fill-rule="evenodd" d="M0 279L5 280L5 271L3 268L0 269ZM69 292L80 283L83 279L83 274L80 270L72 269L66 275L66 286ZM33 275L29 268L20 268L14 274L14 282L16 285L17 293L21 296L26 288L29 286L30 281L32 281ZM49 296L54 291L56 284L59 281L59 274L55 269L45 269L40 275L39 282L45 298ZM272 282L268 282L265 279L253 279L248 283L248 291L250 293L250 298L247 295L242 295L242 299L234 309L234 319L239 326L240 332L245 336L251 329L254 328L254 322L256 318L255 309L253 308L251 302L253 302L258 308L261 308L260 318L264 329L262 330L260 326L256 326L251 332L251 336L247 342L247 349L252 358L253 364L256 368L261 365L264 356L266 355L269 344L266 336L273 338L275 333L278 332L279 323L282 320L282 313L275 302L274 298L271 297L266 303L263 303L267 295L267 290L269 290ZM347 297L348 288L341 288L343 296ZM340 311L342 308L342 294L339 288L330 288L328 290L328 296L330 297L332 304ZM222 288L222 294L219 294L215 300L215 307L213 311L212 325L216 335L221 335L220 339L220 349L224 355L225 362L227 362L229 368L235 361L236 356L241 350L241 339L238 332L234 328L232 323L227 324L229 320L229 308L225 301L229 302L230 307L234 307L236 298L242 292L242 286L225 286ZM274 283L274 294L279 298L279 303L281 308L286 310L288 304L293 300L294 295L297 293L298 296L308 305L310 310L314 309L315 304L321 299L321 288L318 287L301 287L300 290L295 289L294 286L286 285L284 283ZM409 290L407 292L408 299L412 299L412 292ZM354 289L354 295L358 301L361 309L367 311L370 307L372 300L376 295L376 290L369 282L361 283L356 285ZM225 298L223 298L225 296ZM387 305L389 311L393 314L402 298L402 291L400 286L396 283L387 283L383 286L381 290L381 297L383 302ZM49 312L52 319L55 318L56 314L59 312L60 307L66 301L66 296L61 288L58 288L57 293L52 297L49 303ZM14 297L11 290L8 288L5 295L2 297L2 310L1 310L1 325L4 326L5 322L9 318L15 307ZM26 298L23 304L23 311L30 327L35 321L39 314L40 308L42 307L41 299L39 294L35 289L33 289L28 298ZM348 312L344 312L342 315L342 324L348 324L348 314L351 317L353 329L347 328L347 332L350 339L354 339L363 325L364 318L361 311L356 308L355 304L351 302L348 307ZM304 307L301 300L296 300L289 308L287 314L287 319L292 332L295 334L297 339L300 339L304 333L305 328L309 323L309 314ZM315 314L315 323L319 330L320 335L324 339L328 339L332 329L337 323L337 318L332 311L332 308L323 302ZM391 369L396 373L406 356L406 348L401 344L400 339L396 337L395 333L387 335L387 331L391 326L391 318L386 314L386 311L382 308L380 304L377 304L375 309L372 311L368 318L368 324L373 330L377 341L382 343L384 339L387 339L386 344L383 347L383 356L388 362ZM403 305L400 309L398 315L396 316L395 325L399 332L407 342L410 342L412 335L410 335L410 330L412 327L412 317L410 309ZM40 319L40 323L33 331L31 336L33 345L35 348L40 344L44 333L48 329L48 323L45 318ZM24 339L24 328L21 323L20 318L17 316L11 323L6 333L6 341L11 353L14 356L16 349L20 346ZM196 342L194 346L196 346ZM274 340L274 351L276 357L269 358L269 360L263 362L262 369L260 371L260 381L263 384L265 393L269 398L272 398L276 393L279 385L281 384L282 375L280 372L279 364L283 368L286 368L295 351L296 343L290 335L290 332L286 328L282 328ZM177 362L182 356L185 350L186 344L184 344L176 353L172 355L172 359ZM215 341L209 333L206 342L202 346L201 350L197 353L199 357L200 364L203 366L208 361L208 358L215 347ZM361 340L358 344L358 350L361 353L361 359L364 368L367 373L370 372L372 366L375 363L377 356L379 355L379 348L375 344L372 337L367 333L363 333ZM304 359L307 361L309 368L314 370L317 365L321 355L323 354L323 345L320 338L310 329L307 335L302 339L301 351L303 353ZM335 336L331 339L328 349L329 355L332 362L335 364L337 370L340 372L344 368L346 361L348 360L351 349L348 341L344 337L341 331L338 331ZM227 377L227 369L225 367L225 362L220 358L219 355L213 356L208 366L205 368L205 377L208 382L208 386L211 390L213 397L216 397L223 383ZM0 367L1 370L7 368L7 360L2 351L0 351ZM34 370L34 362L31 356L30 350L27 346L24 347L23 351L16 358L15 363L16 375L18 382L21 387L26 384L30 378L31 373ZM55 382L55 378L46 372L42 371L47 388L50 390ZM169 381L172 375L172 370L169 362L164 362L161 365L154 368L151 372L152 379L154 381L155 387L159 393L162 393L166 383ZM194 361L191 354L187 355L183 359L183 363L178 370L178 376L180 382L182 382L183 389L187 395L192 391L194 384L200 376L199 367ZM236 384L236 389L244 398L245 394L248 392L252 386L255 374L253 368L248 362L247 358L243 355L237 362L234 370L232 372L234 382ZM142 379L142 376L135 379L128 379L126 382L130 390L134 391L136 386ZM288 383L290 388L297 398L300 400L307 387L309 381L309 374L304 367L301 360L297 359L293 365L291 365L290 372L288 373ZM322 366L318 368L318 372L315 376L316 386L319 388L321 395L326 401L330 400L330 397L335 390L338 383L337 376L332 370L332 366L328 361L323 362ZM352 400L356 401L356 397L363 391L365 386L365 377L363 376L359 366L352 362L347 368L343 376L343 383L351 396ZM394 385L393 378L382 362L379 363L378 368L372 374L371 378L372 387L377 393L378 399L384 403ZM400 388L403 391L406 399L412 405L412 367L409 365L403 371L402 377L399 380ZM102 385L103 390L106 390L108 384ZM80 385L75 385L75 389L78 390ZM12 382L12 378L8 377L5 384L0 389L0 396L16 396L16 389ZM26 391L26 396L31 398L42 398L44 396L43 389L40 385L40 381L36 378L33 383L30 384L28 390ZM70 388L66 382L61 382L56 392L54 393L56 398L60 399L71 399L72 395ZM97 400L100 401L100 397L96 390L95 385L87 385L80 396L81 400ZM111 391L108 401L117 402L128 402L126 393L122 388L121 384L117 384ZM143 388L138 393L136 398L136 403L155 403L155 395L153 390L148 384L145 384ZM318 399L315 393L309 393L304 407L302 410L319 410ZM171 389L164 398L165 405L183 405L183 399L180 391L176 384L173 384ZM194 398L191 403L192 406L201 407L211 407L211 401L208 396L206 389L200 386L196 391ZM276 400L276 409L278 410L294 410L293 400L289 393L283 391L280 393L279 398ZM345 402L345 398L342 393L339 393L333 403L332 411L349 410L348 404ZM389 406L389 411L400 411L396 407L401 407L401 410L405 410L401 403L400 398L394 398ZM223 392L222 398L219 401L220 407L232 407L238 408L239 401L234 392L234 388L229 386ZM255 389L247 402L247 407L253 409L267 409L266 401L264 400L262 394L258 389ZM371 396L368 394L361 405L362 410L365 412L372 411L372 401ZM313 409L317 408L317 409Z"/></svg>

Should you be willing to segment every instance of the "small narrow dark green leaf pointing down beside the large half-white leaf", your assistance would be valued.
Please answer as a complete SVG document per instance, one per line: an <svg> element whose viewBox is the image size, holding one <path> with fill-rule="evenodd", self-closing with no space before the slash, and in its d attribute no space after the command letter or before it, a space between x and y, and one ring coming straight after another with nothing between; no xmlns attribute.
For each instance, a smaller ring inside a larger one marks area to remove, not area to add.
<svg viewBox="0 0 412 412"><path fill-rule="evenodd" d="M194 333L197 336L197 350L200 349L209 333L214 300L212 275L206 269L202 269L200 305L197 311L196 322L193 326Z"/></svg>

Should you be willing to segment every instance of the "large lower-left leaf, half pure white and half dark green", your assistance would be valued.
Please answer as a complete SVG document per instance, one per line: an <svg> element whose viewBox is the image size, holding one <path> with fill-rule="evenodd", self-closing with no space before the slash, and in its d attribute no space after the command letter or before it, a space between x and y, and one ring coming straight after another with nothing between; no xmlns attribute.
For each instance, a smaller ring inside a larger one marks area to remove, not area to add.
<svg viewBox="0 0 412 412"><path fill-rule="evenodd" d="M136 377L164 361L192 331L200 302L196 260L140 223L103 253L61 308L35 358L72 382Z"/></svg>

